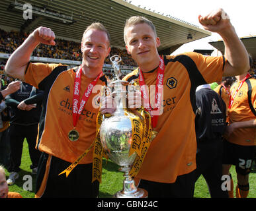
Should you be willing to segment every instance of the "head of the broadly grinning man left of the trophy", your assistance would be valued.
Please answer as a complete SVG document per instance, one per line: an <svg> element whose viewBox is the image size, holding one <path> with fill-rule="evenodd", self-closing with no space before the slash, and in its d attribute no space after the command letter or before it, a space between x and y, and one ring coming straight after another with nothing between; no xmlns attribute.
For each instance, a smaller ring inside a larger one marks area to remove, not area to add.
<svg viewBox="0 0 256 211"><path fill-rule="evenodd" d="M83 53L82 67L85 74L101 73L105 58L110 52L109 40L106 32L91 29L83 35L81 43Z"/></svg>

